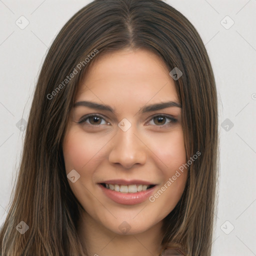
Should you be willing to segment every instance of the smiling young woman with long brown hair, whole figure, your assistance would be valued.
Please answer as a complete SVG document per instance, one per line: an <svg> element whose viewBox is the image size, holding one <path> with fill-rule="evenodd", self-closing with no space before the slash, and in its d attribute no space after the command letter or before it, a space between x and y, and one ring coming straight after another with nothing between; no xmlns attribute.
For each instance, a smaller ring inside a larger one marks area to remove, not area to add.
<svg viewBox="0 0 256 256"><path fill-rule="evenodd" d="M1 255L209 256L217 141L192 24L161 0L94 0L44 60Z"/></svg>

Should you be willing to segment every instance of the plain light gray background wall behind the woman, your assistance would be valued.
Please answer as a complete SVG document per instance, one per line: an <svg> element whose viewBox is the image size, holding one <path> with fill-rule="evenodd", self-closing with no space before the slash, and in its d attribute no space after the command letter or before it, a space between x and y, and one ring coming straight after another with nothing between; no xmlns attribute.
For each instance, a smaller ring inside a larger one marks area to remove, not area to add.
<svg viewBox="0 0 256 256"><path fill-rule="evenodd" d="M16 123L27 120L48 47L64 23L88 2L0 0L0 224L23 141ZM256 255L256 0L166 2L199 32L218 90L220 177L212 256ZM15 23L24 24L21 15L29 21L24 29ZM231 24L226 15L234 21L229 29L224 27Z"/></svg>

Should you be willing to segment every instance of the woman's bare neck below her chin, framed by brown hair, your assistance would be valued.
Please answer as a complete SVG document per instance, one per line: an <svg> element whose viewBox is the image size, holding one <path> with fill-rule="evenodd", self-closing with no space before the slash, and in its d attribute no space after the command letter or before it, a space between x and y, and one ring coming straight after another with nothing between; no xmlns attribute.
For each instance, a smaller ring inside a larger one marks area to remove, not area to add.
<svg viewBox="0 0 256 256"><path fill-rule="evenodd" d="M78 236L88 255L158 256L161 249L162 222L135 234L118 234L105 228L83 212L78 221Z"/></svg>

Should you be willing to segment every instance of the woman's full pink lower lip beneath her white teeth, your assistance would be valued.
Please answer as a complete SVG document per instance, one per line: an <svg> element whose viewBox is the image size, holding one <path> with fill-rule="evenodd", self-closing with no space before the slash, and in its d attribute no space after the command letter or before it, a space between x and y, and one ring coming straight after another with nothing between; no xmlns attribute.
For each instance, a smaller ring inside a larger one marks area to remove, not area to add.
<svg viewBox="0 0 256 256"><path fill-rule="evenodd" d="M145 191L140 191L136 193L122 193L106 188L101 184L99 184L99 186L104 192L104 194L113 201L121 204L132 205L145 201L153 193L153 190L156 185Z"/></svg>

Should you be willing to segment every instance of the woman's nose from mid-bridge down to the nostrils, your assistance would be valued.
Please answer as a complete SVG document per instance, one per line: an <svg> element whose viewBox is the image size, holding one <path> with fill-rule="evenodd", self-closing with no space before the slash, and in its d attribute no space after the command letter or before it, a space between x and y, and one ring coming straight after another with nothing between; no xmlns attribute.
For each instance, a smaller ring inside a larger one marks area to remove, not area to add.
<svg viewBox="0 0 256 256"><path fill-rule="evenodd" d="M111 145L108 160L112 164L120 164L129 169L135 164L144 164L147 158L147 147L143 141L135 135L130 127L128 130L117 130Z"/></svg>

